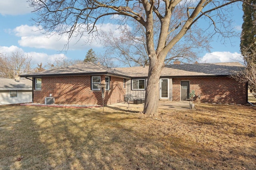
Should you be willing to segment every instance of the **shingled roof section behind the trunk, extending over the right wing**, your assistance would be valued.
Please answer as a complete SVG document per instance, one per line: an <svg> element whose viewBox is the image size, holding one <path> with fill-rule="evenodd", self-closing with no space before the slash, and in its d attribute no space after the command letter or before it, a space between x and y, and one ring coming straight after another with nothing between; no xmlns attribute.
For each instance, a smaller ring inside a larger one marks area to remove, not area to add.
<svg viewBox="0 0 256 170"><path fill-rule="evenodd" d="M244 66L238 62L232 63L203 63L203 64L172 64L166 65L161 76L188 77L188 76L228 76L241 71ZM131 77L147 77L148 66L116 68Z"/></svg>

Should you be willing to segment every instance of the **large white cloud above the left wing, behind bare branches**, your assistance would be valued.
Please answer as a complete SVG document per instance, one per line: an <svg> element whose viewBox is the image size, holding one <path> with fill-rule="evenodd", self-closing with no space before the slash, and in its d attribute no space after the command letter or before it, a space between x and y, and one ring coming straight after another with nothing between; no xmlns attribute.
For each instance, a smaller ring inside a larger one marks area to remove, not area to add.
<svg viewBox="0 0 256 170"><path fill-rule="evenodd" d="M102 25L96 25L98 29L102 31L109 31L110 29L114 31L115 35L120 35L117 30L120 25L104 23ZM85 30L86 25L80 25L80 30ZM68 42L68 34L63 34L62 36L58 33L52 33L51 35L44 34L44 30L38 31L35 26L20 25L13 29L16 36L20 37L18 41L19 45L22 47L32 47L38 49L53 49L56 51L61 51L64 45ZM93 41L91 41L93 40ZM100 48L100 37L94 35L88 35L84 33L82 36L77 32L74 34L69 42L69 50L85 49L85 48Z"/></svg>

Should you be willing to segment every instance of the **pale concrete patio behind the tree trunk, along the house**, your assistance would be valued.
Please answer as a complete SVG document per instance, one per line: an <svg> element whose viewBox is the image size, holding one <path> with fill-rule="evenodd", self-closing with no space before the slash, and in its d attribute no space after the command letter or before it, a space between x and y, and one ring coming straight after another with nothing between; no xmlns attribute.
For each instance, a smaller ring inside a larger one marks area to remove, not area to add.
<svg viewBox="0 0 256 170"><path fill-rule="evenodd" d="M144 108L144 104L133 104L133 102L128 103L116 103L116 104L110 104L109 107L128 107L128 108ZM158 104L159 109L189 109L189 102L188 101L180 101L180 102L171 102L171 101L159 101Z"/></svg>

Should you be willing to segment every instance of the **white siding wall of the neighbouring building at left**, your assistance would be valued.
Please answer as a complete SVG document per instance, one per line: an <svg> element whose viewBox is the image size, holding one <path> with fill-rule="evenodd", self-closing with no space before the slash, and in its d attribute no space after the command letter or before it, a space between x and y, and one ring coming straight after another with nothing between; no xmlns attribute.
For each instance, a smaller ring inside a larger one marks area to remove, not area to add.
<svg viewBox="0 0 256 170"><path fill-rule="evenodd" d="M10 97L9 90L0 90L0 105L28 102L32 102L32 90L18 90L17 97Z"/></svg>

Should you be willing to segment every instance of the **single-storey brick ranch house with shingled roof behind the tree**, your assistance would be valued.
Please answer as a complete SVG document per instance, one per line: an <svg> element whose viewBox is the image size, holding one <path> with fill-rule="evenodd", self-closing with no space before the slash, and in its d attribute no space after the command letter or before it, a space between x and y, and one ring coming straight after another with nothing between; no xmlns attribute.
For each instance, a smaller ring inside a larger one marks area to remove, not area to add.
<svg viewBox="0 0 256 170"><path fill-rule="evenodd" d="M182 101L195 90L195 100L214 103L247 103L247 84L230 78L242 64L166 65L159 80L159 100ZM84 63L24 74L33 81L33 102L44 103L52 96L56 104L102 105L99 84L106 84L104 105L124 101L125 94L144 98L148 66L108 68Z"/></svg>

